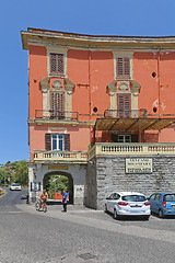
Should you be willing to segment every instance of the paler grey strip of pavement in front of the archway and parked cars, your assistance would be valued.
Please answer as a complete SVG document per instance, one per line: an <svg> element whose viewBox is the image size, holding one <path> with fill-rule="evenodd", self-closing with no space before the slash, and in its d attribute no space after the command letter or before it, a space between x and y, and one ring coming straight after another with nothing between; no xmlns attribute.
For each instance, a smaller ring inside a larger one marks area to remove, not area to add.
<svg viewBox="0 0 175 263"><path fill-rule="evenodd" d="M23 211L40 215L45 217L56 218L58 220L65 220L72 224L84 225L101 230L107 230L118 232L132 237L140 237L152 240L166 241L175 244L175 232L167 230L149 229L149 222L147 227L140 226L122 226L117 220L110 220L108 215L103 210L94 210L83 206L69 205L68 213L62 213L62 206L48 206L48 211L37 211L34 205L21 204L16 205L18 208Z"/></svg>

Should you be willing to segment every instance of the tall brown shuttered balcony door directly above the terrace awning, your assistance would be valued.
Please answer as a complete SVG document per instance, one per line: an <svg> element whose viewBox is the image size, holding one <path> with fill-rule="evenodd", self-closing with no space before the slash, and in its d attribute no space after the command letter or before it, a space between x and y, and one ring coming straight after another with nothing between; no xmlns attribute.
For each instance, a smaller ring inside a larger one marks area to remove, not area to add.
<svg viewBox="0 0 175 263"><path fill-rule="evenodd" d="M118 94L117 106L119 117L130 117L130 94Z"/></svg>

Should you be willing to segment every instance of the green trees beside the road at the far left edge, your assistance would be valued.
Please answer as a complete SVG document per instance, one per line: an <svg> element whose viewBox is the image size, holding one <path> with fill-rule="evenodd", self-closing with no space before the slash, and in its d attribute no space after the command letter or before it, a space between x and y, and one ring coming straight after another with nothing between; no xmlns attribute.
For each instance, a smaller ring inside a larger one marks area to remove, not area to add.
<svg viewBox="0 0 175 263"><path fill-rule="evenodd" d="M10 181L8 181L10 178ZM21 185L27 185L28 183L28 168L26 160L10 162L4 165L0 164L0 184L19 183Z"/></svg>

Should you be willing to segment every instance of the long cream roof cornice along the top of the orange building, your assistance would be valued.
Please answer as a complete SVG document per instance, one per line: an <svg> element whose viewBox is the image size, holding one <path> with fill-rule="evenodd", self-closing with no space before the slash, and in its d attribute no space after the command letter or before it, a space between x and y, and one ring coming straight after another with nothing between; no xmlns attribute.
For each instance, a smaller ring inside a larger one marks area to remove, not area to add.
<svg viewBox="0 0 175 263"><path fill-rule="evenodd" d="M21 32L23 49L28 49L28 42L55 43L86 47L145 47L145 48L174 48L175 36L109 36L85 35L39 28L27 28Z"/></svg>

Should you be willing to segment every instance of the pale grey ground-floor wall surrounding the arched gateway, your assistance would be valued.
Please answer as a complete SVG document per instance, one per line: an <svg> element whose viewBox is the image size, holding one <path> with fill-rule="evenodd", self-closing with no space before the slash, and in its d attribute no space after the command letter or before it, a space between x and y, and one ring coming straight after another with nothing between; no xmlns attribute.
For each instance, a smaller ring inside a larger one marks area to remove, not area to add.
<svg viewBox="0 0 175 263"><path fill-rule="evenodd" d="M48 175L63 175L69 180L70 204L84 204L85 164L28 164L28 202L33 203L44 188L44 178Z"/></svg>

